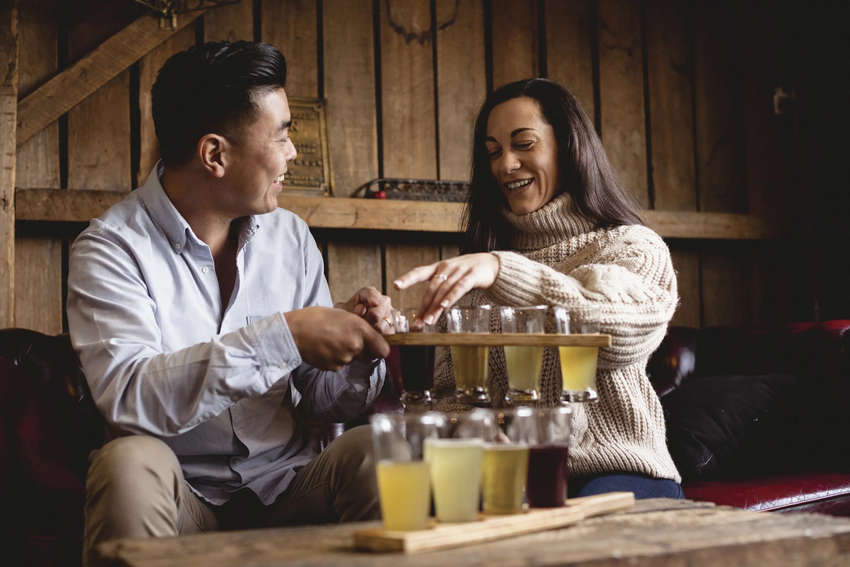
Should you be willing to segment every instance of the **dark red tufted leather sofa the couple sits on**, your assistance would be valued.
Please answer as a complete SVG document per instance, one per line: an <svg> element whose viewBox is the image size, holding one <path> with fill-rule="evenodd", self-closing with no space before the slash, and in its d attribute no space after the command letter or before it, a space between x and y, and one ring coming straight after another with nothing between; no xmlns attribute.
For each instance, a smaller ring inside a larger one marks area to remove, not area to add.
<svg viewBox="0 0 850 567"><path fill-rule="evenodd" d="M670 329L648 367L662 402L697 377L793 373L802 385L795 419L806 443L796 462L812 465L758 478L691 480L684 484L687 497L752 510L850 515L848 330L850 320L769 331ZM369 413L401 411L395 356L388 370ZM103 423L67 335L0 331L0 414L3 564L79 564L85 471L89 453L103 443ZM340 426L305 418L321 445L342 433Z"/></svg>

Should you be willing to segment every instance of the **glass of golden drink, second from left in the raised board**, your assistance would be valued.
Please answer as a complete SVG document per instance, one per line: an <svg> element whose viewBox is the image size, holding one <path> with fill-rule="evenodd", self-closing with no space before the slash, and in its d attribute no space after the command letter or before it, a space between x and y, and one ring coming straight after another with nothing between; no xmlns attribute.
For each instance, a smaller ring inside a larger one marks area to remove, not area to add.
<svg viewBox="0 0 850 567"><path fill-rule="evenodd" d="M445 313L450 333L489 333L490 305L452 307ZM456 344L451 346L451 364L455 368L455 397L462 404L490 405L487 392L487 365L490 348Z"/></svg>

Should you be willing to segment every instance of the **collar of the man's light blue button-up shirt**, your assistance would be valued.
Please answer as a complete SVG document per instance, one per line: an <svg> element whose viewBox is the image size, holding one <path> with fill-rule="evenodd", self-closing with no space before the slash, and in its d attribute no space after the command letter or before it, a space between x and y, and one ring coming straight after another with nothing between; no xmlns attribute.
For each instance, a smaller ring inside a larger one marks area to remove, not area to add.
<svg viewBox="0 0 850 567"><path fill-rule="evenodd" d="M153 218L154 222L165 233L171 249L179 254L184 251L187 239L191 238L198 244L202 244L202 242L195 236L189 223L168 198L167 193L162 188L161 175L162 160L156 162L148 180L139 187L139 197L144 202L144 207L150 214L150 218ZM257 235L258 228L257 218L253 216L244 218L240 230L240 242L252 241Z"/></svg>

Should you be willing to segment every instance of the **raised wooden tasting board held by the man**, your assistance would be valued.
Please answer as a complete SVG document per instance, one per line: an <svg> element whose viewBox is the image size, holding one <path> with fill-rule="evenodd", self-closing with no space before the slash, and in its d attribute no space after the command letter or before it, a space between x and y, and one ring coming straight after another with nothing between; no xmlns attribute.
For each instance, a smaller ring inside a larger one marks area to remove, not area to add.
<svg viewBox="0 0 850 567"><path fill-rule="evenodd" d="M384 335L403 346L467 347L609 347L610 335L558 335L544 332L405 332Z"/></svg>

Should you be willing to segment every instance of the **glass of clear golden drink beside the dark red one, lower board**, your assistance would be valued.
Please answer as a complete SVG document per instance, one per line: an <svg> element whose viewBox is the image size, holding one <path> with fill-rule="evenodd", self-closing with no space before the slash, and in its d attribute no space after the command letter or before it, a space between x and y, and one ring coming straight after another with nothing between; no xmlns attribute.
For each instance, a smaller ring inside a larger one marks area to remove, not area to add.
<svg viewBox="0 0 850 567"><path fill-rule="evenodd" d="M496 411L498 429L484 442L481 492L485 514L522 513L536 422L530 407Z"/></svg>

